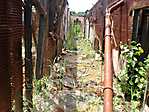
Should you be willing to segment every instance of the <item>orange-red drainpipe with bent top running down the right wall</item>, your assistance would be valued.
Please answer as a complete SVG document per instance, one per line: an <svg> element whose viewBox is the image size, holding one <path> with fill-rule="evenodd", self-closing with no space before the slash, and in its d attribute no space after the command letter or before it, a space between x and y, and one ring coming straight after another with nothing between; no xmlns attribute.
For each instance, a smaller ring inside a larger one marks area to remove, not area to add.
<svg viewBox="0 0 149 112"><path fill-rule="evenodd" d="M104 53L104 112L113 112L113 69L111 46L111 12L119 8L124 0L119 0L106 9L105 53Z"/></svg>

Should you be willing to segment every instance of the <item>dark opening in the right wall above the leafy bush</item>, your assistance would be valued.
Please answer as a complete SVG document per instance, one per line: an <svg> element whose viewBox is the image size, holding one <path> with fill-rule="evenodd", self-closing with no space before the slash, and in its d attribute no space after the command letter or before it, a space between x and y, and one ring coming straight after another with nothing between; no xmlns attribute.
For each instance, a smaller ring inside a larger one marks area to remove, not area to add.
<svg viewBox="0 0 149 112"><path fill-rule="evenodd" d="M132 39L141 44L142 56L146 57L149 54L149 8L134 10Z"/></svg>

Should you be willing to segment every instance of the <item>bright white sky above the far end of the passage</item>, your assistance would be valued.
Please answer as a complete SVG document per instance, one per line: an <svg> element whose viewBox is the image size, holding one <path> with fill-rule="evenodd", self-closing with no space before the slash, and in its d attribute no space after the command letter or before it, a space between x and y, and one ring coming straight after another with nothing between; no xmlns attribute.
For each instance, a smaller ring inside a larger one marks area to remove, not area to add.
<svg viewBox="0 0 149 112"><path fill-rule="evenodd" d="M70 10L85 12L92 8L98 0L68 0Z"/></svg>

